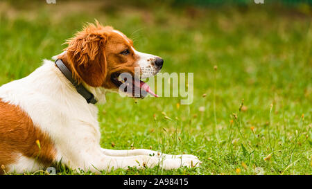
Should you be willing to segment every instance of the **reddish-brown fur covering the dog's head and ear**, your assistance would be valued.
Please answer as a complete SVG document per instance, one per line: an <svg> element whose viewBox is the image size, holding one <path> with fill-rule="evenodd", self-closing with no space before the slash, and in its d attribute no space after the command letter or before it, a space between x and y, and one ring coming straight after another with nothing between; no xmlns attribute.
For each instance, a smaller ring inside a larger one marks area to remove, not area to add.
<svg viewBox="0 0 312 189"><path fill-rule="evenodd" d="M138 66L133 42L114 32L110 26L88 24L67 42L67 53L58 56L78 82L92 87L116 89L110 77L113 73L132 73ZM121 55L128 49L129 55Z"/></svg>

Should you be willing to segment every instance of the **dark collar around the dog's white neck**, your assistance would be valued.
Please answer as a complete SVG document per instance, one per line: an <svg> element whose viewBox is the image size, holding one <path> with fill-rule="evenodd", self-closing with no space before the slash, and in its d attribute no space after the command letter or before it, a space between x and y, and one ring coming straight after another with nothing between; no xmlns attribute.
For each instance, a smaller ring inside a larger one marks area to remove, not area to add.
<svg viewBox="0 0 312 189"><path fill-rule="evenodd" d="M73 84L73 86L76 88L77 92L80 93L80 95L83 96L83 98L85 98L85 100L87 100L88 104L92 103L95 105L96 102L98 102L94 98L94 95L92 93L90 93L87 89L85 89L83 84L78 84L78 82L76 80L73 80L71 71L67 68L67 66L65 66L65 64L62 62L62 60L60 60L60 59L55 60L55 64L56 64L56 66L58 66L58 69L60 69L60 71L67 78L67 80L69 80Z"/></svg>

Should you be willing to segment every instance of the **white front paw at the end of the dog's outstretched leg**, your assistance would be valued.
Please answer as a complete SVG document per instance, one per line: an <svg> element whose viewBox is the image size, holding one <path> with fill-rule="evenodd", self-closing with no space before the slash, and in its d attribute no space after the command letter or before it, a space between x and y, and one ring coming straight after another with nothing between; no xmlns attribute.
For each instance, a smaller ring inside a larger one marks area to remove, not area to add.
<svg viewBox="0 0 312 189"><path fill-rule="evenodd" d="M195 156L196 157L196 156ZM196 158L184 157L176 158L176 159L164 159L162 162L162 168L166 170L177 169L180 167L187 166L187 168L198 167L202 162Z"/></svg>

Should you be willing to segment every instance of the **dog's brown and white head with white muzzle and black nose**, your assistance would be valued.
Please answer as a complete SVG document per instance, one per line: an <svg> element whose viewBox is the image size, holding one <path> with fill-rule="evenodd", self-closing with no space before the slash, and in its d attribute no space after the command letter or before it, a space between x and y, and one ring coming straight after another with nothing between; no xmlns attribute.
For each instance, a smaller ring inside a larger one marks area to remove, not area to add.
<svg viewBox="0 0 312 189"><path fill-rule="evenodd" d="M135 84L135 75L138 75L137 80L156 75L164 62L155 55L136 51L131 39L110 26L101 26L97 21L85 26L67 44L65 52L58 58L67 62L78 82L119 91L121 84L127 82L119 75L129 73L133 77L132 87L124 92L132 97L135 96L135 88L144 85L142 81ZM139 73L135 73L138 70ZM144 96L140 93L137 97Z"/></svg>

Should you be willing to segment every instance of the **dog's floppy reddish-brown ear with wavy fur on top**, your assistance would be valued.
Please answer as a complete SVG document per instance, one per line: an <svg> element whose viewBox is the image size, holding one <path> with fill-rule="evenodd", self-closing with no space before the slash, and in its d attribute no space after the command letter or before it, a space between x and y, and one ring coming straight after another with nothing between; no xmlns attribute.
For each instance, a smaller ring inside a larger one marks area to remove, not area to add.
<svg viewBox="0 0 312 189"><path fill-rule="evenodd" d="M67 58L73 77L92 87L101 87L107 75L105 43L107 37L101 26L90 24L67 44Z"/></svg>

